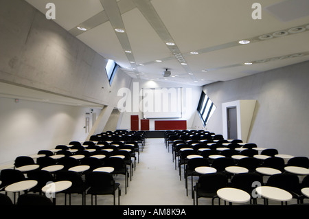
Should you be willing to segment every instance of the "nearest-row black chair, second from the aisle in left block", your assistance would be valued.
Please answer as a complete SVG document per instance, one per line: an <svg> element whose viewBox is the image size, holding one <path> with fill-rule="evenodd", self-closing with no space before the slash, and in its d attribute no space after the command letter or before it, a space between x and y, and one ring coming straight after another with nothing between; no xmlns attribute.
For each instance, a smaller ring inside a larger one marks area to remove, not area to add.
<svg viewBox="0 0 309 219"><path fill-rule="evenodd" d="M61 170L56 173L56 181L70 181L72 183L71 187L60 192L65 194L65 205L67 205L67 194L69 194L69 205L71 205L71 194L81 194L82 205L84 205L87 187L84 184L82 176L78 172Z"/></svg>

